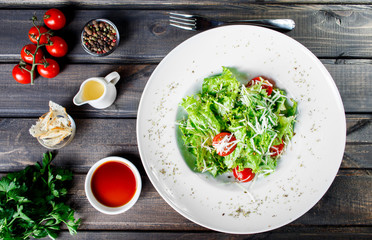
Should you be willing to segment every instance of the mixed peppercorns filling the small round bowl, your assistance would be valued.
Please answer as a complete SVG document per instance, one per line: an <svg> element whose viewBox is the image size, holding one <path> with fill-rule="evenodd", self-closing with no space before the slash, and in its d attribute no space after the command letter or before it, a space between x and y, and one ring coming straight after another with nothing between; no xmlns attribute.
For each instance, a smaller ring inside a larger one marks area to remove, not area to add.
<svg viewBox="0 0 372 240"><path fill-rule="evenodd" d="M110 52L117 44L117 33L109 23L92 21L84 27L83 44L93 53Z"/></svg>

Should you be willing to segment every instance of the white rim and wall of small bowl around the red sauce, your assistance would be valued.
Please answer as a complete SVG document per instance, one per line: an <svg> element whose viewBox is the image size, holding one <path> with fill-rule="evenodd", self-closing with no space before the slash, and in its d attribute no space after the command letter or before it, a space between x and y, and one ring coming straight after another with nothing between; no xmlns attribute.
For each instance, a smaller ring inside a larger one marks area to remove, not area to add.
<svg viewBox="0 0 372 240"><path fill-rule="evenodd" d="M101 166L102 164L106 162L110 162L110 161L116 161L116 162L121 162L121 163L126 164L132 170L134 177L136 179L137 186L136 186L136 192L134 193L134 196L128 203L120 207L108 207L108 206L103 205L94 197L93 192L92 192L91 181L92 181L93 173L96 171L96 169L99 166ZM129 210L131 207L133 207L133 205L137 202L140 196L141 189L142 189L142 180L141 180L141 175L138 172L138 169L136 168L136 166L133 165L133 163L131 163L130 161L122 157L112 156L112 157L106 157L106 158L99 160L90 168L85 178L85 194L90 204L98 211L105 213L105 214L110 214L110 215L123 213Z"/></svg>

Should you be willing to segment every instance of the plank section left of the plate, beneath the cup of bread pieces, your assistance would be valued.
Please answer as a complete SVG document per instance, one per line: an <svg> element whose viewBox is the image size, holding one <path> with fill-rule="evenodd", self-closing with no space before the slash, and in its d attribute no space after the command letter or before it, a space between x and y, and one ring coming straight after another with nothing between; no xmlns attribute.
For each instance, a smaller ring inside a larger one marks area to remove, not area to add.
<svg viewBox="0 0 372 240"><path fill-rule="evenodd" d="M0 169L3 172L34 164L47 151L28 132L36 120L0 120ZM75 138L58 151L56 165L63 164L75 172L86 173L99 159L119 155L132 161L142 174L145 173L137 148L135 119L75 118L75 123Z"/></svg>

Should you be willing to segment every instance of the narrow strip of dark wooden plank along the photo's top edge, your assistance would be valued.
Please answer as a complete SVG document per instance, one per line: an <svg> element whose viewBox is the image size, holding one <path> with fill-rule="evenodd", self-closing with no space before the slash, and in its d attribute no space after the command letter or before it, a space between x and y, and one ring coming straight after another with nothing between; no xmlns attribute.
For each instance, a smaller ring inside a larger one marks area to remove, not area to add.
<svg viewBox="0 0 372 240"><path fill-rule="evenodd" d="M369 0L266 0L266 4L370 4ZM220 0L220 1L193 1L193 0L110 0L102 4L100 0L7 0L0 1L0 8L66 8L77 9L242 9L251 5L262 4L257 0Z"/></svg>

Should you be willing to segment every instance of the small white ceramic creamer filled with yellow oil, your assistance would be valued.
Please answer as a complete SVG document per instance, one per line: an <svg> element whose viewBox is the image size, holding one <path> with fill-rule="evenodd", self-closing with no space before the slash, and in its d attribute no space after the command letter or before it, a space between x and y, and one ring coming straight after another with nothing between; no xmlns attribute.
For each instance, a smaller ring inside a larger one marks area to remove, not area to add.
<svg viewBox="0 0 372 240"><path fill-rule="evenodd" d="M85 80L73 102L80 106L88 103L94 108L104 109L111 106L116 99L115 84L120 80L117 72L112 72L106 77L92 77Z"/></svg>

